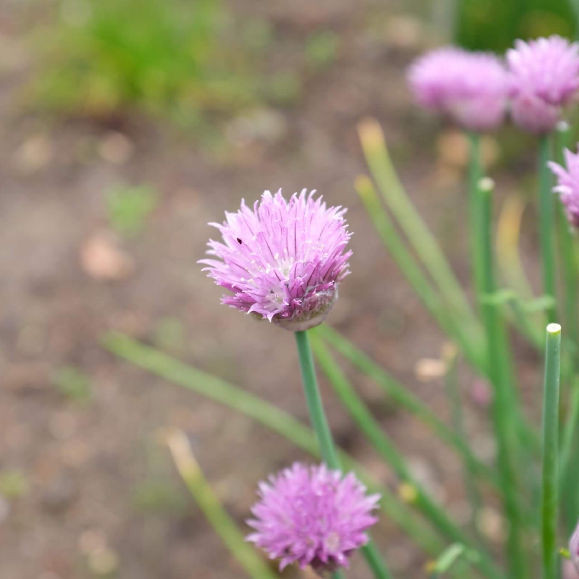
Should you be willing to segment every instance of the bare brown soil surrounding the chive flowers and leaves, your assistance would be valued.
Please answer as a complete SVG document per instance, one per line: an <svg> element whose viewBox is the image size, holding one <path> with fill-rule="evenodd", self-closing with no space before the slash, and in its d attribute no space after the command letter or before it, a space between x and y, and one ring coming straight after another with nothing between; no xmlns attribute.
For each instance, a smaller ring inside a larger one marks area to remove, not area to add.
<svg viewBox="0 0 579 579"><path fill-rule="evenodd" d="M404 84L404 67L423 35L413 33L413 20L392 25L396 7L382 3L276 1L264 8L247 0L236 6L240 17L267 17L292 50L311 30L331 27L339 34L335 63L310 75L295 108L278 111L281 135L242 144L223 137L225 154L216 156L195 138L133 118L122 127L133 152L115 163L99 153L109 129L17 112L30 55L17 32L19 15L5 4L2 39L12 54L23 53L23 63L10 65L0 83L0 473L21 471L27 488L0 503L0 579L91 577L87 553L103 543L118 557L122 579L240 579L243 571L189 499L157 433L177 426L190 435L197 460L241 525L256 482L307 457L245 417L114 358L100 347L100 336L117 328L160 344L306 420L291 334L220 306L221 290L196 261L214 234L206 223L221 220L240 197L316 188L329 203L349 207L355 233L353 274L329 323L448 415L441 382L415 377L420 358L439 356L441 332L387 255L352 187L365 171L356 125L376 116L413 200L467 280L463 191L456 179L437 181L435 127L409 104ZM404 25L406 34L394 34ZM223 130L221 123L215 127ZM80 252L107 230L103 191L119 182L151 184L162 199L144 232L121 242L134 271L102 281L83 269ZM167 324L182 338L163 340ZM54 373L67 366L89 377L88 402L70 400L54 386ZM533 371L527 383L533 384ZM452 454L415 420L393 412L367 379L349 373L440 499L460 511ZM336 437L394 488L389 469L326 386ZM469 409L468 419L482 448L484 413ZM160 496L153 504L142 498L151 488ZM376 536L398 576L424 576L423 556L389 521ZM356 559L350 576L369 574Z"/></svg>

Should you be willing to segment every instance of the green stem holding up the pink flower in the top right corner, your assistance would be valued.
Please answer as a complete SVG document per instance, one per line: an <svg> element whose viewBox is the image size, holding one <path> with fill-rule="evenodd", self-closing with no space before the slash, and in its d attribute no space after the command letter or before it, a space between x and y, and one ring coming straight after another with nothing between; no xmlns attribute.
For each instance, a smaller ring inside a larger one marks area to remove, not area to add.
<svg viewBox="0 0 579 579"><path fill-rule="evenodd" d="M554 223L555 203L551 191L551 171L547 166L551 157L551 137L544 135L539 141L539 237L541 243L541 266L543 293L556 299ZM547 309L549 323L557 321L555 302Z"/></svg>

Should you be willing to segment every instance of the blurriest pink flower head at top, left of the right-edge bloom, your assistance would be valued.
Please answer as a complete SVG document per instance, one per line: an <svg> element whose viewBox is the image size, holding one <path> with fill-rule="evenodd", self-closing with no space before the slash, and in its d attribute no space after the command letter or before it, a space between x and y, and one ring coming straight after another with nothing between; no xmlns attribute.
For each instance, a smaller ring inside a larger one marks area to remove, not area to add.
<svg viewBox="0 0 579 579"><path fill-rule="evenodd" d="M420 105L466 129L492 130L503 122L508 76L493 54L455 46L433 50L411 65L408 81Z"/></svg>

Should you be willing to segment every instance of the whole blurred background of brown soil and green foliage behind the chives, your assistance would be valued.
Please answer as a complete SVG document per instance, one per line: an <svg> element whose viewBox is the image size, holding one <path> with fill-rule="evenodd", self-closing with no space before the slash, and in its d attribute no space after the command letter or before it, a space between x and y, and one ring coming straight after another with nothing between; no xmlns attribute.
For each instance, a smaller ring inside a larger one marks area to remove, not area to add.
<svg viewBox="0 0 579 579"><path fill-rule="evenodd" d="M446 416L442 336L353 192L365 171L356 126L382 123L413 201L466 280L464 140L412 104L405 68L451 39L502 51L516 37L573 37L578 11L573 0L1 0L0 579L245 577L160 429L189 435L242 526L256 482L306 456L100 345L118 329L306 420L291 334L220 306L196 263L215 236L206 223L241 197L316 188L349 207L353 274L328 321ZM510 129L486 138L502 198L532 195L533 148ZM532 209L526 221L532 229ZM536 241L524 232L536 278ZM536 412L539 361L517 347ZM464 518L455 457L347 371L416 476ZM461 378L468 429L492 456L485 384ZM324 393L339 443L395 488ZM483 527L500 540L490 508ZM376 535L395 573L426 576L389 521ZM351 576L364 579L359 563Z"/></svg>

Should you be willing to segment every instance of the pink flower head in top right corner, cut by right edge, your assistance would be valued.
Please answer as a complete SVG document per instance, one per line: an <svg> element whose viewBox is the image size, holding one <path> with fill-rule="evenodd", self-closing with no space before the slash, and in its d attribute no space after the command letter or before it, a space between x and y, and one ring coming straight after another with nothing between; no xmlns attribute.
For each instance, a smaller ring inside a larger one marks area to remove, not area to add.
<svg viewBox="0 0 579 579"><path fill-rule="evenodd" d="M548 133L579 89L579 44L560 36L515 42L507 51L512 118L531 133Z"/></svg>

